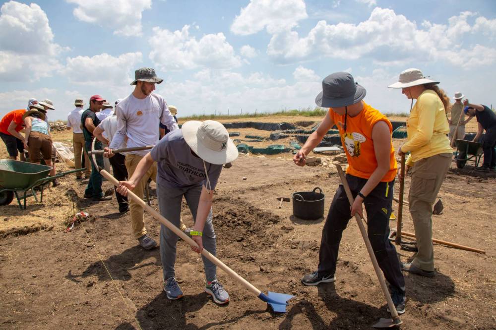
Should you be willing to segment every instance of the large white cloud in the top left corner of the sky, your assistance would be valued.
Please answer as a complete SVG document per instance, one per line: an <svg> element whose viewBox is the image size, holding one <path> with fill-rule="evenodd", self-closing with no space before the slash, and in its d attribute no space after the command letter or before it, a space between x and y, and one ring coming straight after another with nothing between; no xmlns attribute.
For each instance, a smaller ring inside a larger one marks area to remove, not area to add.
<svg viewBox="0 0 496 330"><path fill-rule="evenodd" d="M41 7L16 1L0 8L0 79L36 81L60 68L49 20Z"/></svg>

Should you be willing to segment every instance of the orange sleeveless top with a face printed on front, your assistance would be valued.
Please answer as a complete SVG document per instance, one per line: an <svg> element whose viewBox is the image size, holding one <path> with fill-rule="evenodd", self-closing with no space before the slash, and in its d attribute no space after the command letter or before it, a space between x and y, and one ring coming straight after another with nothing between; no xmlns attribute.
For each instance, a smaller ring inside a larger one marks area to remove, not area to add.
<svg viewBox="0 0 496 330"><path fill-rule="evenodd" d="M344 115L339 115L329 108L329 115L334 121L341 136L341 143L348 158L348 169L346 173L364 179L370 178L372 172L377 168L377 160L372 141L372 127L376 122L382 120L389 126L392 134L393 127L385 115L364 102L364 109L356 116L346 119L346 132L344 131ZM390 182L396 176L396 158L391 143L389 153L389 171L384 175L381 182Z"/></svg>

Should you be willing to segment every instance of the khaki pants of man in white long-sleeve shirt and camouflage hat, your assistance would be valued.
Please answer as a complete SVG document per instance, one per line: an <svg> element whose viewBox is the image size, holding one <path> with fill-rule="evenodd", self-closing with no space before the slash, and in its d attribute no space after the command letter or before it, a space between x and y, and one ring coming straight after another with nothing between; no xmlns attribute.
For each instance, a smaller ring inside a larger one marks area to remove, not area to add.
<svg viewBox="0 0 496 330"><path fill-rule="evenodd" d="M127 168L127 175L129 178L134 173L134 170L141 159L143 159L143 156L134 154L126 155L125 167ZM145 190L145 184L148 183L149 178L154 182L157 182L157 163L155 162L148 168L136 187L132 190L132 192L141 199L143 199L143 191ZM132 233L135 238L140 238L146 234L145 222L143 221L143 208L135 201L131 200L129 202L129 211L131 214Z"/></svg>

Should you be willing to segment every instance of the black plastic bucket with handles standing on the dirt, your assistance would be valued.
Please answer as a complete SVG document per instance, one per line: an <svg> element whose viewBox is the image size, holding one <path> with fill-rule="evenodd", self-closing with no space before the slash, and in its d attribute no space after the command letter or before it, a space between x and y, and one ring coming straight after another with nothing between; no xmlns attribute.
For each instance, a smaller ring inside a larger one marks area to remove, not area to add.
<svg viewBox="0 0 496 330"><path fill-rule="evenodd" d="M315 192L317 190L319 192ZM324 197L322 189L293 193L293 214L303 220L316 220L324 216Z"/></svg>

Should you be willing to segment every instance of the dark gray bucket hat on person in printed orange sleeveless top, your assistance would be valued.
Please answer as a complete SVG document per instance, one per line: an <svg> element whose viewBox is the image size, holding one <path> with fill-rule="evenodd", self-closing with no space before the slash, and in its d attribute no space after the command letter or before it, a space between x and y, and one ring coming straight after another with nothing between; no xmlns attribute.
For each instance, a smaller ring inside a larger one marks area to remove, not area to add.
<svg viewBox="0 0 496 330"><path fill-rule="evenodd" d="M351 106L365 98L367 91L348 72L335 72L322 80L322 92L315 103L323 108Z"/></svg>

